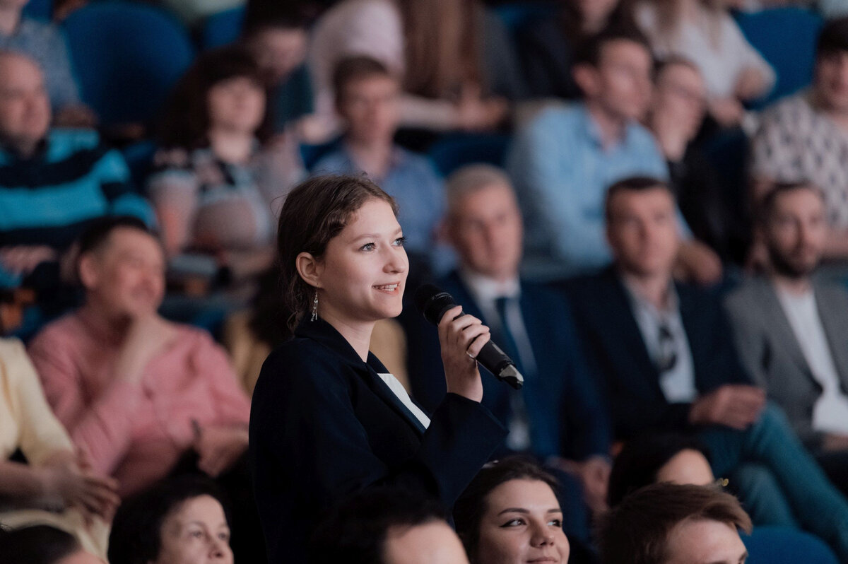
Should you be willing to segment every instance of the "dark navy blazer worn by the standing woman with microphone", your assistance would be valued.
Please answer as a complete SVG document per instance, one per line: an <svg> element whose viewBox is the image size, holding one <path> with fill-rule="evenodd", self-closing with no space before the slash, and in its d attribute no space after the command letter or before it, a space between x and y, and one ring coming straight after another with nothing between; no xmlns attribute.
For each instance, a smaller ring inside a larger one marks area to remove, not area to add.
<svg viewBox="0 0 848 564"><path fill-rule="evenodd" d="M305 561L321 513L374 484L450 507L505 437L483 405L448 394L427 430L326 321L303 321L265 360L250 415L249 460L269 561Z"/></svg>

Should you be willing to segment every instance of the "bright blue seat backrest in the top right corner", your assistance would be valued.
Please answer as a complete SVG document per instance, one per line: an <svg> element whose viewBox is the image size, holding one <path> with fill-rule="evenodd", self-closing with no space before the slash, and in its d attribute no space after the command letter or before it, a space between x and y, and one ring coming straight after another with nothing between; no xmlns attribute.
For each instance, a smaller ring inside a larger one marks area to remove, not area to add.
<svg viewBox="0 0 848 564"><path fill-rule="evenodd" d="M804 8L772 8L738 14L736 21L750 44L778 74L773 91L757 100L753 104L755 109L810 84L816 39L823 25L821 16Z"/></svg>

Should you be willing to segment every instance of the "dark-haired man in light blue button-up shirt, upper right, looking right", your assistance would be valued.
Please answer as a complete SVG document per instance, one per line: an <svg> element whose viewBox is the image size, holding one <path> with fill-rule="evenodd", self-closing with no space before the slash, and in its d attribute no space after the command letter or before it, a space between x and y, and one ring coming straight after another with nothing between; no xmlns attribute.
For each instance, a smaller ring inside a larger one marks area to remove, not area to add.
<svg viewBox="0 0 848 564"><path fill-rule="evenodd" d="M606 188L635 174L667 177L654 138L638 124L650 106L651 69L644 36L602 31L575 62L584 102L544 110L519 133L508 158L510 176L521 198L528 247L546 265L551 257L570 272L606 265ZM721 276L717 256L701 243L684 243L680 260L696 280Z"/></svg>

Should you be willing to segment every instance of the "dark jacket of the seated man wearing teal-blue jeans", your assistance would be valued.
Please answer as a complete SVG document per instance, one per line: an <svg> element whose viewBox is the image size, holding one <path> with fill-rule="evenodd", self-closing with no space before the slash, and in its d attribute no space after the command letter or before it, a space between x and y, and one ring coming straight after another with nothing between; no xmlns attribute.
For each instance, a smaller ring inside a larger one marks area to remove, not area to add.
<svg viewBox="0 0 848 564"><path fill-rule="evenodd" d="M739 363L728 321L717 299L700 288L676 284L680 316L689 340L700 394L728 383L750 383ZM689 403L669 403L660 372L633 316L630 299L612 268L565 285L589 362L603 376L616 437L647 429L688 427Z"/></svg>

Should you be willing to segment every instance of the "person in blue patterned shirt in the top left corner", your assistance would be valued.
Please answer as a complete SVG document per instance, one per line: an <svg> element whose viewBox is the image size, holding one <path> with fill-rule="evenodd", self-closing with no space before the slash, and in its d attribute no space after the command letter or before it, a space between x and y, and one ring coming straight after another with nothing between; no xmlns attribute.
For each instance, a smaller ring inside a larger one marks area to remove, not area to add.
<svg viewBox="0 0 848 564"><path fill-rule="evenodd" d="M0 48L23 53L42 68L57 126L93 126L97 117L80 101L64 36L53 24L24 17L28 2L0 3Z"/></svg>

